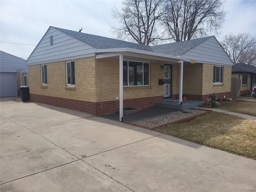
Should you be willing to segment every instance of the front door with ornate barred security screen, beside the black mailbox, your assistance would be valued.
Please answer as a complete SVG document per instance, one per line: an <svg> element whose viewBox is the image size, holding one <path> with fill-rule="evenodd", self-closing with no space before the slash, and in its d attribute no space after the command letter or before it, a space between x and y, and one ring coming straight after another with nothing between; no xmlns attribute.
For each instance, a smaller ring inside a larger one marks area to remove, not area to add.
<svg viewBox="0 0 256 192"><path fill-rule="evenodd" d="M164 98L172 97L172 65L164 64Z"/></svg>

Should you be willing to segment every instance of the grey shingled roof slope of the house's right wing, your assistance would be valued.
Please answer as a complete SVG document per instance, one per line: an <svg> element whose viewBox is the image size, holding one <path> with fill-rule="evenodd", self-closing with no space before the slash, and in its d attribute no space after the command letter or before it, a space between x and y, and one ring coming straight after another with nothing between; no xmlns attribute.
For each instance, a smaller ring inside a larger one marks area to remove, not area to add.
<svg viewBox="0 0 256 192"><path fill-rule="evenodd" d="M157 46L152 46L151 48L154 50L154 52L169 54L174 56L181 56L182 54L188 52L189 50L198 46L202 42L210 39L211 37L213 36L174 42L174 43L163 44L163 45L157 45Z"/></svg>

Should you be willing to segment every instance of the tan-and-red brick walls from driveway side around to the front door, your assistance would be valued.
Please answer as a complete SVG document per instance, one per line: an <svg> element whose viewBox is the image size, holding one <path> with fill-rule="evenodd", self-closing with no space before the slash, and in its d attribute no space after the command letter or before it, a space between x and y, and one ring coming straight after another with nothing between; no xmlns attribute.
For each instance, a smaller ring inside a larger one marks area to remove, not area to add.
<svg viewBox="0 0 256 192"><path fill-rule="evenodd" d="M30 100L97 115L117 112L119 60L91 57L74 61L74 88L66 86L66 62L46 64L47 86L41 83L41 66L29 66ZM124 87L124 107L145 108L162 101L164 90L158 79L163 76L161 64L150 63L150 86Z"/></svg>

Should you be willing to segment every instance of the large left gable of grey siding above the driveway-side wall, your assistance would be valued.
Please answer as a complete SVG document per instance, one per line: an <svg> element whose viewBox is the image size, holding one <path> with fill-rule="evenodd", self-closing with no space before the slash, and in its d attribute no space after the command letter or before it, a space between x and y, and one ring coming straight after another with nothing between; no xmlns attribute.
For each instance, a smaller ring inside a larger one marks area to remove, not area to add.
<svg viewBox="0 0 256 192"><path fill-rule="evenodd" d="M50 45L53 36L53 45ZM70 37L50 27L27 60L27 64L44 64L48 62L84 58L95 52L95 48L80 40Z"/></svg>

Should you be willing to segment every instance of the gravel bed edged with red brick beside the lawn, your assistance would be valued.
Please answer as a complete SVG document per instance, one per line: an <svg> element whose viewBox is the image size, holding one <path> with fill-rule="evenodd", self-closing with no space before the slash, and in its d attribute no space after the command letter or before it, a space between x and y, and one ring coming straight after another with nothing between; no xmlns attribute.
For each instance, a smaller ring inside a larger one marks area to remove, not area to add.
<svg viewBox="0 0 256 192"><path fill-rule="evenodd" d="M195 116L195 115L205 112L204 110L194 110L194 109L185 110L185 111L190 111L192 113L173 112L173 113L168 113L168 114L164 114L164 115L160 115L160 116L155 116L152 118L133 121L132 123L152 128L152 127L156 127L156 126L159 126L162 124L181 120L181 119Z"/></svg>

